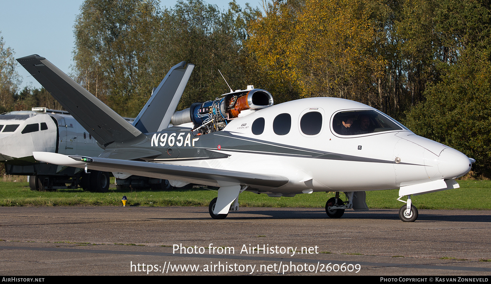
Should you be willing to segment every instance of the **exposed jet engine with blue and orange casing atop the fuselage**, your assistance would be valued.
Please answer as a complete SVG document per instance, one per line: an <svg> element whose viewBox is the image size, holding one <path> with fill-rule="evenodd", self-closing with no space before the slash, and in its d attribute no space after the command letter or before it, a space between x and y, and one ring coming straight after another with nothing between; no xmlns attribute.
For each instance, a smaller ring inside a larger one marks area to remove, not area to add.
<svg viewBox="0 0 491 284"><path fill-rule="evenodd" d="M193 103L191 107L172 115L172 125L193 124L194 135L222 130L232 119L273 105L273 96L265 90L247 86L246 90L223 94L222 98L205 103Z"/></svg>

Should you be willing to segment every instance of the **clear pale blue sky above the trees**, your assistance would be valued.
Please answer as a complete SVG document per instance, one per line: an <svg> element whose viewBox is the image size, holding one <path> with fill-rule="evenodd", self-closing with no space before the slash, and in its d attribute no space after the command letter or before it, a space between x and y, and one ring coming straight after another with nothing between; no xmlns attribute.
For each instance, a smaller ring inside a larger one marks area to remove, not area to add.
<svg viewBox="0 0 491 284"><path fill-rule="evenodd" d="M163 0L162 7L173 7L177 0ZM230 0L204 1L219 8L228 7ZM242 8L246 3L259 6L259 0L236 0ZM73 25L83 0L0 0L0 31L6 47L15 58L39 54L66 74L71 73L74 49ZM29 73L18 67L22 86L40 88Z"/></svg>

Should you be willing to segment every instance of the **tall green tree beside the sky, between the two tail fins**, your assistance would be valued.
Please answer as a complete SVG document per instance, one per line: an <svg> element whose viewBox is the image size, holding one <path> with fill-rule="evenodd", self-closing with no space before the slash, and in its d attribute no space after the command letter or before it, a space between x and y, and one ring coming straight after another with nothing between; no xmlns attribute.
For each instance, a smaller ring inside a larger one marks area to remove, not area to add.
<svg viewBox="0 0 491 284"><path fill-rule="evenodd" d="M124 108L123 115L135 116L141 97L158 84L151 53L159 12L155 0L86 0L77 17L76 77L96 97Z"/></svg>

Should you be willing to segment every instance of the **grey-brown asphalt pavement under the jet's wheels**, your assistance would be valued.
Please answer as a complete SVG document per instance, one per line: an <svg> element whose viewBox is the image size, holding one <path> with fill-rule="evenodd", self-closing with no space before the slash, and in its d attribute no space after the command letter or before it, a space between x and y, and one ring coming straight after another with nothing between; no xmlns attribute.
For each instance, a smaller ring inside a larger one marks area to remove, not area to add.
<svg viewBox="0 0 491 284"><path fill-rule="evenodd" d="M2 275L491 274L490 210L0 207Z"/></svg>

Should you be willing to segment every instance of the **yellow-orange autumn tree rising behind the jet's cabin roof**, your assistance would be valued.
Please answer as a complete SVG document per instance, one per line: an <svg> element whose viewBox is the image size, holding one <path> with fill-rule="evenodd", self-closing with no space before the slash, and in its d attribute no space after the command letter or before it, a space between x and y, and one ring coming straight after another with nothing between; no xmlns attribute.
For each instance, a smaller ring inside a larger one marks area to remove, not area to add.
<svg viewBox="0 0 491 284"><path fill-rule="evenodd" d="M374 104L384 61L364 1L273 1L249 26L246 46L277 82L300 97L340 97Z"/></svg>

